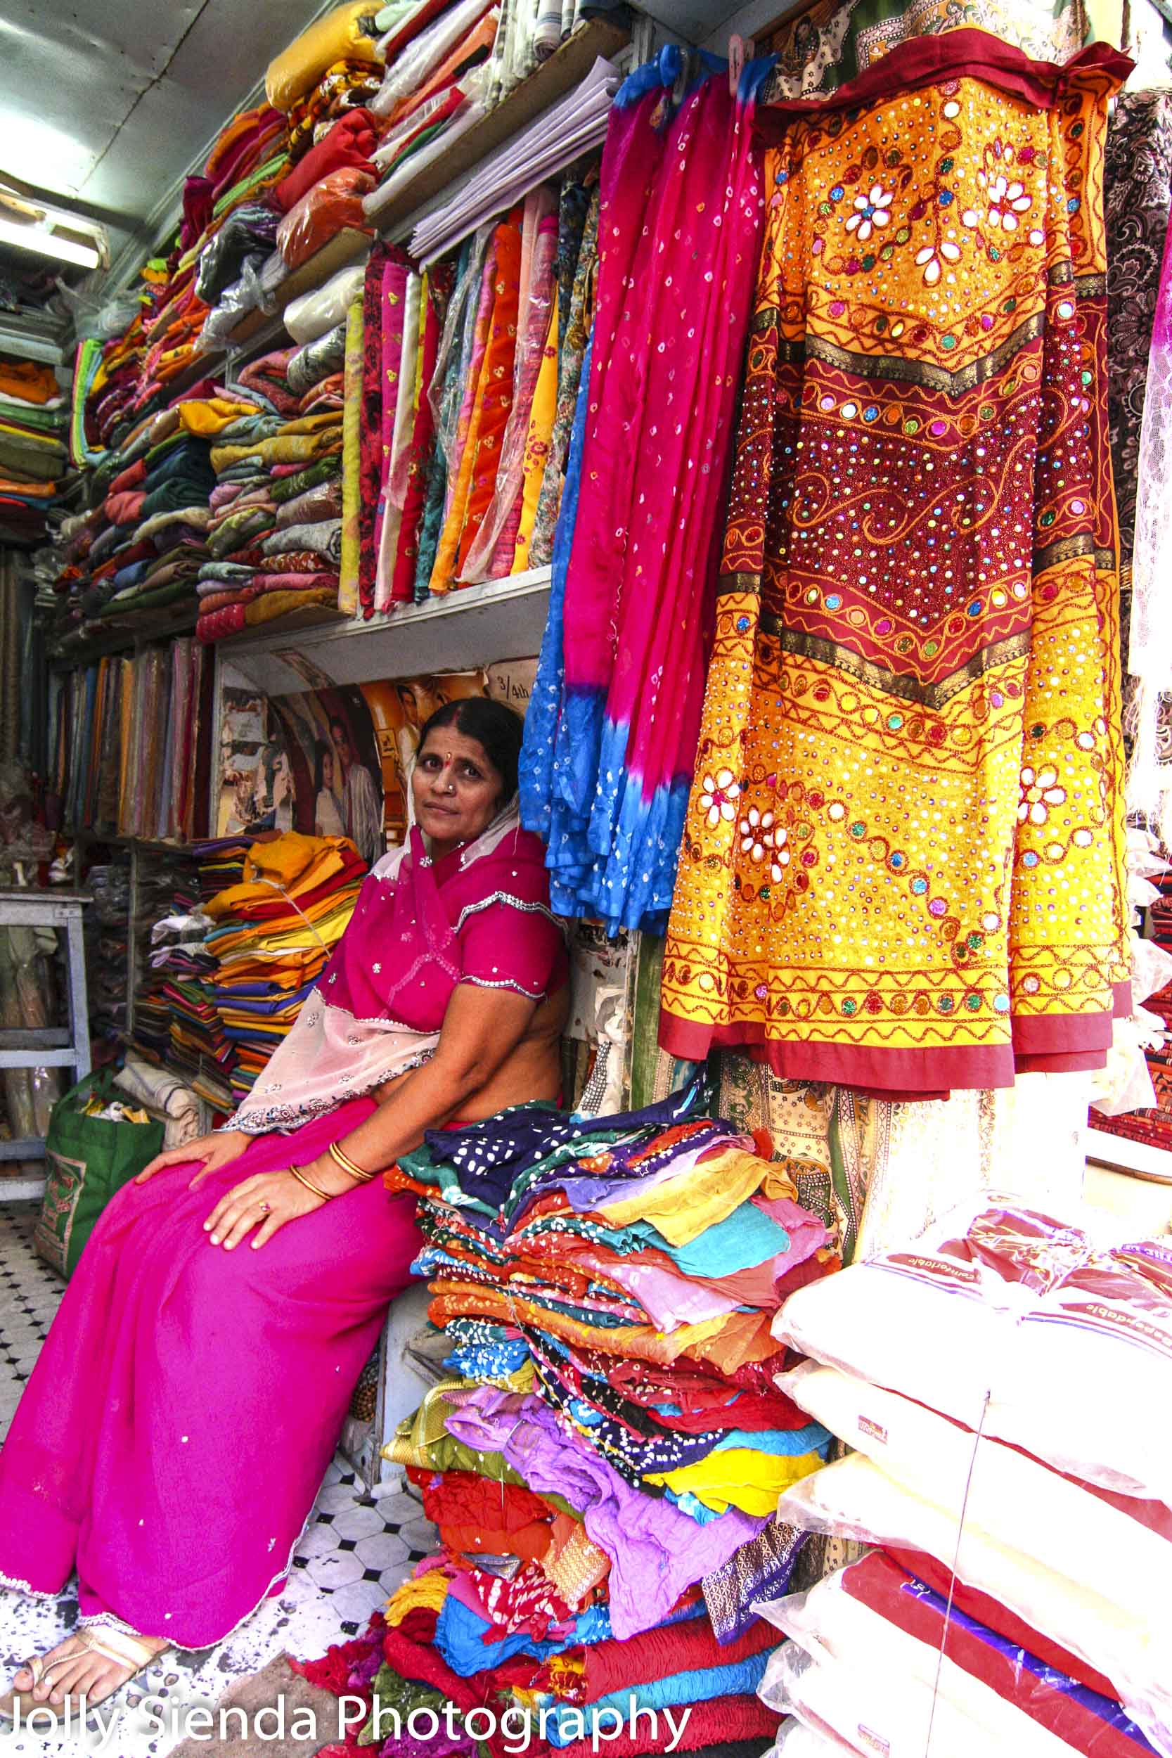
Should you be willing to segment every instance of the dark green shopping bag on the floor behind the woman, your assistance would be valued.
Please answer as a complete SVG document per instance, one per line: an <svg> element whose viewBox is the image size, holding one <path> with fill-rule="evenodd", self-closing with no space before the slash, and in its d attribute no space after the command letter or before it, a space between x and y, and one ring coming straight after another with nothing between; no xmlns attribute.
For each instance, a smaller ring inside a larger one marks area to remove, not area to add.
<svg viewBox="0 0 1172 1758"><path fill-rule="evenodd" d="M114 1074L86 1074L53 1106L46 1141L46 1187L33 1243L46 1264L69 1278L109 1199L163 1150L162 1123L114 1123L83 1116L91 1097L123 1097Z"/></svg>

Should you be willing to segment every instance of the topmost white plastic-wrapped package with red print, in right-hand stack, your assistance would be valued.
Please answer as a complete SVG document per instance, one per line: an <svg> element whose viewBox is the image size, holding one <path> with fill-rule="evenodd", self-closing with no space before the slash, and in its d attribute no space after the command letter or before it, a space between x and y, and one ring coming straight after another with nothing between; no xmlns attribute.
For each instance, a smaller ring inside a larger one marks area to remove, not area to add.
<svg viewBox="0 0 1172 1758"><path fill-rule="evenodd" d="M984 1197L905 1252L799 1289L773 1333L1060 1471L1172 1505L1163 1243L1105 1252L1014 1197Z"/></svg>

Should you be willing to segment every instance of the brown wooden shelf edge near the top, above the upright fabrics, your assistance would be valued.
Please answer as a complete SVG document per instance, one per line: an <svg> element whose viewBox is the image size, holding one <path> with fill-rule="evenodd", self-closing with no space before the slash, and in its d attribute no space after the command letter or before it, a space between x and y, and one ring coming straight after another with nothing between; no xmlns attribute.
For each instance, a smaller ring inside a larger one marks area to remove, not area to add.
<svg viewBox="0 0 1172 1758"><path fill-rule="evenodd" d="M573 91L590 72L599 54L606 60L629 42L629 33L610 19L596 18L582 25L568 42L541 62L527 79L510 91L503 104L459 135L452 148L425 165L385 207L371 214L383 237L404 239L420 218L420 209L434 206L455 183L462 183L476 165L525 128L541 111ZM378 192L376 192L378 193Z"/></svg>

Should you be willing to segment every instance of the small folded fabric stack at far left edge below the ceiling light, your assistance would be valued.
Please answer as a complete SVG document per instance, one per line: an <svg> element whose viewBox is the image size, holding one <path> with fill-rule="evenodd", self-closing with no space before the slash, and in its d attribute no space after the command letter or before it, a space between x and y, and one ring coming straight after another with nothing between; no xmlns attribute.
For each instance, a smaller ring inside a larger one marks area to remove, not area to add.
<svg viewBox="0 0 1172 1758"><path fill-rule="evenodd" d="M69 410L51 366L0 355L0 541L42 543L69 468Z"/></svg>

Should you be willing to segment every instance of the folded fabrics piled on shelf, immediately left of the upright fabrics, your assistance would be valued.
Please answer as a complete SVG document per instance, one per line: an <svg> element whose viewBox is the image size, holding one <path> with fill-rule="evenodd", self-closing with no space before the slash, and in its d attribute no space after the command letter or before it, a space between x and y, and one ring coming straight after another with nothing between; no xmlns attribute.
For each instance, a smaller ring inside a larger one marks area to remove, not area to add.
<svg viewBox="0 0 1172 1758"><path fill-rule="evenodd" d="M211 454L216 485L199 573L202 642L337 607L341 346L327 336L265 355L241 373L230 396L241 413Z"/></svg>

